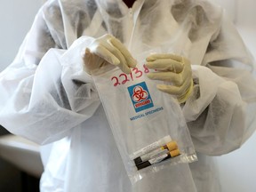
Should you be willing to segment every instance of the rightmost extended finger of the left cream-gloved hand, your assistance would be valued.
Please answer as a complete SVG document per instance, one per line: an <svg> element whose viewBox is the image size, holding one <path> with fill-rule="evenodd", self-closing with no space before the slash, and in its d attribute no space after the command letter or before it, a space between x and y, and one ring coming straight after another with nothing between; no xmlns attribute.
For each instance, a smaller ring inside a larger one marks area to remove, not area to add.
<svg viewBox="0 0 256 192"><path fill-rule="evenodd" d="M111 38L109 41L111 44L113 44L116 47L116 49L118 49L120 52L122 52L122 54L124 55L124 58L127 62L127 66L130 68L135 68L137 61L135 59L133 59L132 54L126 49L124 44L122 44L115 37Z"/></svg>

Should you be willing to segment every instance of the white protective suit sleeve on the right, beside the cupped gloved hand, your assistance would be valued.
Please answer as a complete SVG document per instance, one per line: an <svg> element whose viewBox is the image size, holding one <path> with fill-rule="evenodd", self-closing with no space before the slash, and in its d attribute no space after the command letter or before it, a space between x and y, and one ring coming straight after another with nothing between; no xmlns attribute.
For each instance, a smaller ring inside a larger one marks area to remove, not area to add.
<svg viewBox="0 0 256 192"><path fill-rule="evenodd" d="M255 130L255 63L225 16L220 26L202 66L192 66L194 92L182 108L196 150L211 156L240 148Z"/></svg>

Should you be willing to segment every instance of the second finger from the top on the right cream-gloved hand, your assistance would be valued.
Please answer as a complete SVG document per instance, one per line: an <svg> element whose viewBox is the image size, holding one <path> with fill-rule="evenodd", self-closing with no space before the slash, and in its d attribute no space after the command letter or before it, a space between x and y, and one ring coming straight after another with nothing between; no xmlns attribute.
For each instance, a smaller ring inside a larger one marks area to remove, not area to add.
<svg viewBox="0 0 256 192"><path fill-rule="evenodd" d="M172 71L175 73L180 73L183 70L183 64L177 60L172 60L169 58L152 60L146 63L146 66L150 69L156 69L161 71Z"/></svg>

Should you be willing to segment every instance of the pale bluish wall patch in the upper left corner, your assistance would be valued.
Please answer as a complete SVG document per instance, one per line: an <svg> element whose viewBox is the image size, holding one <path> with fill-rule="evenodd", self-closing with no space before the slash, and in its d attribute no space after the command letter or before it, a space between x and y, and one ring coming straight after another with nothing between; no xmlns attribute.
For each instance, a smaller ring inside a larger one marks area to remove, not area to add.
<svg viewBox="0 0 256 192"><path fill-rule="evenodd" d="M43 0L0 2L0 71L14 59L41 4Z"/></svg>

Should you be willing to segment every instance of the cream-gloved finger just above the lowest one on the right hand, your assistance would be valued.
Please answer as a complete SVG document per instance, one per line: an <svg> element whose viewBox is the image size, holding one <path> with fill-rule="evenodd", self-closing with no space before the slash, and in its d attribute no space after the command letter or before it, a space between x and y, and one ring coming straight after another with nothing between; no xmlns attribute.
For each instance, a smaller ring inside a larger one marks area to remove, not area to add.
<svg viewBox="0 0 256 192"><path fill-rule="evenodd" d="M148 73L148 78L152 80L160 80L172 82L172 84L176 84L177 86L181 86L186 81L186 78L183 77L183 74L176 74L173 72L152 72ZM189 77L189 76L188 76Z"/></svg>

